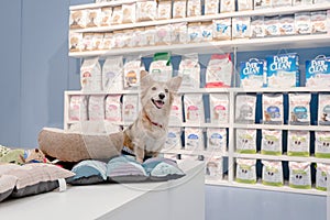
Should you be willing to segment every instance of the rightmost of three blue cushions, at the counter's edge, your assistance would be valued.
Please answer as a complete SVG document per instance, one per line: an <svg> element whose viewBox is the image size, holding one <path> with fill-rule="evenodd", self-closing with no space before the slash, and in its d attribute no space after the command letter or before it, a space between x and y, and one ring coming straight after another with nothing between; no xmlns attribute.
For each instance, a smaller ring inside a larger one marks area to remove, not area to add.
<svg viewBox="0 0 330 220"><path fill-rule="evenodd" d="M150 179L154 182L177 179L185 176L185 173L177 166L177 163L169 158L148 158L142 166L148 174Z"/></svg>

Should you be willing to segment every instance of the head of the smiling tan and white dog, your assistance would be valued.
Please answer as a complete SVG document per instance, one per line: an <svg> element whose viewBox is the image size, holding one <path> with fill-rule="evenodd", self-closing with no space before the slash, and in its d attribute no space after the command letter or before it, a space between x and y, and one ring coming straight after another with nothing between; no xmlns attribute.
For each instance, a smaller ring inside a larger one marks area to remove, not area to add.
<svg viewBox="0 0 330 220"><path fill-rule="evenodd" d="M182 85L182 77L173 77L166 82L155 81L146 72L141 73L141 103L156 110L166 109L169 111L173 95Z"/></svg>

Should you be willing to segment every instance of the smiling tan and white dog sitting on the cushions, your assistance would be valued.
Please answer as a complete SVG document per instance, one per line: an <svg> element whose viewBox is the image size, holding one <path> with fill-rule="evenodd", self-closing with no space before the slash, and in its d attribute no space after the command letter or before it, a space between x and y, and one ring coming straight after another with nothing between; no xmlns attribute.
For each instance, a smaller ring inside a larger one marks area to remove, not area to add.
<svg viewBox="0 0 330 220"><path fill-rule="evenodd" d="M141 77L142 110L124 130L123 145L142 163L145 156L156 157L165 144L173 96L180 87L182 77L173 77L167 82L153 80L146 72Z"/></svg>

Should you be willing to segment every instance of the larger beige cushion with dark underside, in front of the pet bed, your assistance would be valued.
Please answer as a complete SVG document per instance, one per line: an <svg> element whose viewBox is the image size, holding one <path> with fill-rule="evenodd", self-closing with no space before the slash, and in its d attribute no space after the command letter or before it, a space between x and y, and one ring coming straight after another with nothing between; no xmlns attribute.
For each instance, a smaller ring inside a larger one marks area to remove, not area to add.
<svg viewBox="0 0 330 220"><path fill-rule="evenodd" d="M75 175L70 170L44 163L25 164L4 172L4 174L16 178L11 197L23 197L54 190L59 186L58 179L66 179Z"/></svg>

